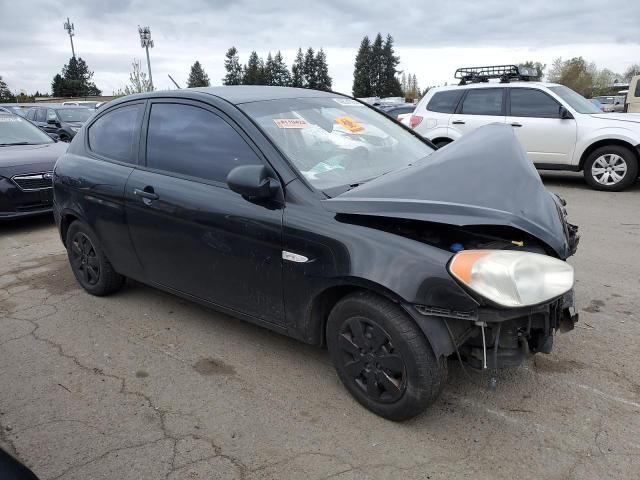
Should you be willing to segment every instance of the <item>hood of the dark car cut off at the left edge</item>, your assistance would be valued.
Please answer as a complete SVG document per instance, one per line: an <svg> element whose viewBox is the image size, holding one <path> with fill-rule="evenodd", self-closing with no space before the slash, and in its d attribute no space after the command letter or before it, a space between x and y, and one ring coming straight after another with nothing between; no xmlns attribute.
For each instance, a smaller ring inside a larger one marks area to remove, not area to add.
<svg viewBox="0 0 640 480"><path fill-rule="evenodd" d="M57 142L0 147L0 176L51 171L68 146L68 143Z"/></svg>

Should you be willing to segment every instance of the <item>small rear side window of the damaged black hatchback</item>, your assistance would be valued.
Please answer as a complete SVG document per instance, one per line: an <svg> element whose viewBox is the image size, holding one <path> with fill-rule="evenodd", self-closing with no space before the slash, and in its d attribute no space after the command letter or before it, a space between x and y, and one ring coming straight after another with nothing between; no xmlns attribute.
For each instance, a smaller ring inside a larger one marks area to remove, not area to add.
<svg viewBox="0 0 640 480"><path fill-rule="evenodd" d="M135 163L138 127L144 105L127 105L107 112L89 127L89 148L106 158Z"/></svg>

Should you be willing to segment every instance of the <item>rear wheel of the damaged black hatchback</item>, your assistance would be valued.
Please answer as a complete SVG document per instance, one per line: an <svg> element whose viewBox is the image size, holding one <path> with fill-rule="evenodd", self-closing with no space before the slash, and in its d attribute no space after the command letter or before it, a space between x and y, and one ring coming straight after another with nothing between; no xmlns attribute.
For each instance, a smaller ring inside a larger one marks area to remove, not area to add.
<svg viewBox="0 0 640 480"><path fill-rule="evenodd" d="M124 284L124 277L107 260L96 235L85 224L75 221L67 231L67 255L76 280L92 295L103 296L116 292Z"/></svg>

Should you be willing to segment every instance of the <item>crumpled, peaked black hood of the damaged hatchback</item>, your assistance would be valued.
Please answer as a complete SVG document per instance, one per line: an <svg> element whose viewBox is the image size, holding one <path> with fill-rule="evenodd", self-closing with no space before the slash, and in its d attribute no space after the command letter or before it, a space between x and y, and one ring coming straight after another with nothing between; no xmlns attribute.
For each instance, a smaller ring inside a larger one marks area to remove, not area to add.
<svg viewBox="0 0 640 480"><path fill-rule="evenodd" d="M544 187L508 125L478 128L413 166L323 204L343 214L510 226L535 236L561 258L571 254L559 199Z"/></svg>

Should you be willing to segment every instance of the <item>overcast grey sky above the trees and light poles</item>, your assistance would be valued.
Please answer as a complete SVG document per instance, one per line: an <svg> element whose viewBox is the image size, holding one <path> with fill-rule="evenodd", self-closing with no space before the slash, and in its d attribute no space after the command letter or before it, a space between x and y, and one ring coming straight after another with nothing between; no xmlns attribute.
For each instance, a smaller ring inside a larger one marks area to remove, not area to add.
<svg viewBox="0 0 640 480"><path fill-rule="evenodd" d="M623 72L640 62L640 2L616 8L601 0L0 0L0 75L14 91L50 91L71 56L63 29L75 24L76 55L95 72L104 94L123 88L133 59L144 59L138 25L149 25L156 88L185 86L199 60L212 85L224 76L224 53L235 45L281 50L291 64L298 47L323 47L334 89L351 93L355 53L364 35L391 33L399 69L421 87L451 82L460 66L551 64L583 56Z"/></svg>

